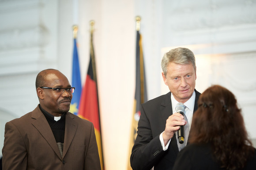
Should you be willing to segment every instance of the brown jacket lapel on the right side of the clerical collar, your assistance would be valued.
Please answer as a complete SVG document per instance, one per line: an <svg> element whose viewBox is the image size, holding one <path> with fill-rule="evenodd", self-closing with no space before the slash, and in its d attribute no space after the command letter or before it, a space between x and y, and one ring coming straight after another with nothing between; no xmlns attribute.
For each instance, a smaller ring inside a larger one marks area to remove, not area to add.
<svg viewBox="0 0 256 170"><path fill-rule="evenodd" d="M65 137L64 137L64 148L63 148L63 158L68 152L68 148L75 137L75 132L78 123L74 121L74 115L72 113L67 113L65 121Z"/></svg>

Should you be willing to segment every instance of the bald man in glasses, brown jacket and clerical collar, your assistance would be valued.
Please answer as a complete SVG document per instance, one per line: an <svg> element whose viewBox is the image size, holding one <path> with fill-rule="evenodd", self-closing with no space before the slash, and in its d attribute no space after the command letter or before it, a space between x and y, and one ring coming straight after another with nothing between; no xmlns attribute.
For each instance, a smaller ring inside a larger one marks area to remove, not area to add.
<svg viewBox="0 0 256 170"><path fill-rule="evenodd" d="M4 170L101 170L93 124L68 112L74 90L58 70L38 73L40 104L5 125Z"/></svg>

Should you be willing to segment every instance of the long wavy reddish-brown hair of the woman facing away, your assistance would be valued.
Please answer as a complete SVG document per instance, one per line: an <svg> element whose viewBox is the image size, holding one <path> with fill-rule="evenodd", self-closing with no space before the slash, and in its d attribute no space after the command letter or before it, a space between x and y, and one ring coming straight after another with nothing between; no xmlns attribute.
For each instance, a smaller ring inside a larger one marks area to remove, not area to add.
<svg viewBox="0 0 256 170"><path fill-rule="evenodd" d="M244 168L247 159L253 156L254 148L234 94L214 85L200 95L198 106L193 115L189 142L210 144L214 159L222 168Z"/></svg>

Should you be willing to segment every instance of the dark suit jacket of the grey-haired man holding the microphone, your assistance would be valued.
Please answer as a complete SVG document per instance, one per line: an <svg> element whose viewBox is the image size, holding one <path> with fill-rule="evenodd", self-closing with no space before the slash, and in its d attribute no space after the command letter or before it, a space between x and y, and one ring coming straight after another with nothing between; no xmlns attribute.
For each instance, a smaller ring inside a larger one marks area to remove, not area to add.
<svg viewBox="0 0 256 170"><path fill-rule="evenodd" d="M194 111L200 93L196 91ZM141 105L138 135L132 148L131 166L133 170L172 170L179 152L176 136L163 151L159 135L165 130L166 119L173 114L171 93L159 96Z"/></svg>

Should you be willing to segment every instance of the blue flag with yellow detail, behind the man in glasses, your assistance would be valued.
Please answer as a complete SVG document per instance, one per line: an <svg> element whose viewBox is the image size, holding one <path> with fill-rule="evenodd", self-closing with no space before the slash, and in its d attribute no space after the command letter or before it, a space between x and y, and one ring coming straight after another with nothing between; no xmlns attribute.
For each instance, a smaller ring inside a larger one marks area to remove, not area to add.
<svg viewBox="0 0 256 170"><path fill-rule="evenodd" d="M76 39L74 38L74 52L73 52L73 68L72 68L72 87L75 87L73 93L73 98L70 105L69 112L78 114L80 96L82 91L81 76L80 76L80 67L79 67L79 58L77 53L77 44Z"/></svg>

